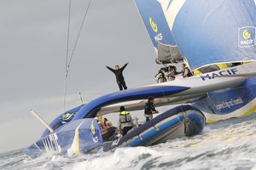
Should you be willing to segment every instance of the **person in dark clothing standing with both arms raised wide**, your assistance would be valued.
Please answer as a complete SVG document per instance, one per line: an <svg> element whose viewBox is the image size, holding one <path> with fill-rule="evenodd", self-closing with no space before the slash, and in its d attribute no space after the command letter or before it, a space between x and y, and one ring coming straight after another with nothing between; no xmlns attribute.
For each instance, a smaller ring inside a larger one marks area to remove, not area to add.
<svg viewBox="0 0 256 170"><path fill-rule="evenodd" d="M116 77L116 82L119 85L119 89L123 90L127 89L126 84L125 84L125 78L123 76L123 71L125 70L125 67L128 65L129 63L126 63L124 66L122 66L121 68L119 68L119 65L115 65L114 68L109 67L108 65L106 65L106 67L108 68L109 71L112 71L113 74Z"/></svg>

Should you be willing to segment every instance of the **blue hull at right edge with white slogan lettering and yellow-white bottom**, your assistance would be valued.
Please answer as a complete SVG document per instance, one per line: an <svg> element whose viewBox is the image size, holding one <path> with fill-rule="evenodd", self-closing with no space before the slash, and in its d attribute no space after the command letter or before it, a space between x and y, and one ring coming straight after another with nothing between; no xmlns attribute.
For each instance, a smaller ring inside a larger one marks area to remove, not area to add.
<svg viewBox="0 0 256 170"><path fill-rule="evenodd" d="M207 93L193 106L207 116L207 122L247 116L256 111L256 77L247 78L240 87Z"/></svg>

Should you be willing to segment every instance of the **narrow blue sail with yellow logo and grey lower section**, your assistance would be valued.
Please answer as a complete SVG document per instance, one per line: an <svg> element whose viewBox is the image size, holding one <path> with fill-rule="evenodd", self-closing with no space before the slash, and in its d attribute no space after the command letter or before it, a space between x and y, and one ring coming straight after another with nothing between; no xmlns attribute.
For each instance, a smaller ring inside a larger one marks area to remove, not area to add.
<svg viewBox="0 0 256 170"><path fill-rule="evenodd" d="M160 63L183 61L160 3L148 0L136 1L136 3L158 54L158 61Z"/></svg>

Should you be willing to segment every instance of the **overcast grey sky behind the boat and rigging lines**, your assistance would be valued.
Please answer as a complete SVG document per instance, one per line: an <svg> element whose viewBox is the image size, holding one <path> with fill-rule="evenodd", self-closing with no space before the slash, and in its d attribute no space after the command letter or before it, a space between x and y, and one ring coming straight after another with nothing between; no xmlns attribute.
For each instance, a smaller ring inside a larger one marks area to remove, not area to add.
<svg viewBox="0 0 256 170"><path fill-rule="evenodd" d="M25 148L63 111L69 0L0 2L0 152ZM72 4L70 50L89 0ZM160 67L133 0L92 0L67 81L67 109L117 91L104 65L124 65L128 88L154 83Z"/></svg>

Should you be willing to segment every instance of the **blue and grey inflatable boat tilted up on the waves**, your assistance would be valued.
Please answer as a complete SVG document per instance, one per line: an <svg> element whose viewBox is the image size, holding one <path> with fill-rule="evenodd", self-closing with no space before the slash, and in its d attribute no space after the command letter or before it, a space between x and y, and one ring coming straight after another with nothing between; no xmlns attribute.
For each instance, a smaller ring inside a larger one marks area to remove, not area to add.
<svg viewBox="0 0 256 170"><path fill-rule="evenodd" d="M194 136L202 132L205 123L206 118L201 111L190 105L179 105L136 127L124 137L103 144L103 150L126 146L149 146L166 142L168 139Z"/></svg>

